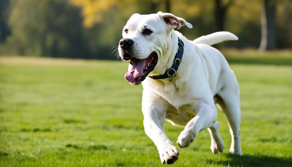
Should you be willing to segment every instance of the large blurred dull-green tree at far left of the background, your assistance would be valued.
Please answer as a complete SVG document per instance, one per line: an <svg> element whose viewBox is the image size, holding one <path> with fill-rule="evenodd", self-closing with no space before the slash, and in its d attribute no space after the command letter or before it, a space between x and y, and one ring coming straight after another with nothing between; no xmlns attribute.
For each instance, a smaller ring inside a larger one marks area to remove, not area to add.
<svg viewBox="0 0 292 167"><path fill-rule="evenodd" d="M20 55L80 57L87 55L80 10L66 0L15 0L8 38Z"/></svg>

